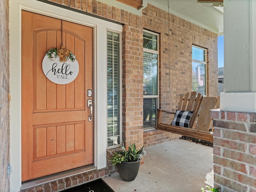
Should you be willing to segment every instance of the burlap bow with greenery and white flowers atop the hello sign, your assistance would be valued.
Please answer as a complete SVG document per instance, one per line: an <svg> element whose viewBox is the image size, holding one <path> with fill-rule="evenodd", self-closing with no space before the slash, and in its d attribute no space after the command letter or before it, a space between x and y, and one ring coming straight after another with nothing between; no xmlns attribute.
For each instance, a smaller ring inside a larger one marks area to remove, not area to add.
<svg viewBox="0 0 256 192"><path fill-rule="evenodd" d="M60 58L60 62L67 62L69 60L71 60L72 62L76 62L77 59L76 59L76 56L74 54L72 54L72 52L70 52L70 50L68 49L63 49L62 46L61 48L50 48L48 50L48 52L46 52L45 54L46 56L48 56L48 58L51 60L51 61L55 61L55 59L57 57Z"/></svg>

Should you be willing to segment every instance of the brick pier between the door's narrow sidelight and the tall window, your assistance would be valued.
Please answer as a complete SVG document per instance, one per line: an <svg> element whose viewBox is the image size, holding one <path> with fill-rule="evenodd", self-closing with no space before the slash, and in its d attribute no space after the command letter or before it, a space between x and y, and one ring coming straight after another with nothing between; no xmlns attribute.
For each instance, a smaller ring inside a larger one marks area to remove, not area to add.
<svg viewBox="0 0 256 192"><path fill-rule="evenodd" d="M129 13L122 33L122 138L127 147L143 145L143 28Z"/></svg>

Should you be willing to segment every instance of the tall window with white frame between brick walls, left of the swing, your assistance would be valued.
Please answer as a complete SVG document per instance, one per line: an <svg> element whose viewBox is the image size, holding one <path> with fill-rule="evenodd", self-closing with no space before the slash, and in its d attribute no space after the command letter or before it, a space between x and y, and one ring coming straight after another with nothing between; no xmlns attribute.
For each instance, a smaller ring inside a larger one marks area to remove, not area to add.
<svg viewBox="0 0 256 192"><path fill-rule="evenodd" d="M143 32L143 127L156 126L158 108L158 34Z"/></svg>

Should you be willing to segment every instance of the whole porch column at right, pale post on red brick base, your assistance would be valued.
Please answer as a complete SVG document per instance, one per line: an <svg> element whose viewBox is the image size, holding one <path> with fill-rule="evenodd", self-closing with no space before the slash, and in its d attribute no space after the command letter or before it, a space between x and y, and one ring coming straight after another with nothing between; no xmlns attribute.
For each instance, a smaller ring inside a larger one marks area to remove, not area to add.
<svg viewBox="0 0 256 192"><path fill-rule="evenodd" d="M256 192L256 2L224 0L224 7L224 93L211 112L214 186Z"/></svg>

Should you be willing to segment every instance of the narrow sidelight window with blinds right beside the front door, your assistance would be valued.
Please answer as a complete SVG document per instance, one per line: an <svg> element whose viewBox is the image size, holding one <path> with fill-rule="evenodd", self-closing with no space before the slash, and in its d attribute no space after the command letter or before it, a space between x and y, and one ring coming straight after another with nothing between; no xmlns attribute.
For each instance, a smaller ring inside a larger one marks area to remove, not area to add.
<svg viewBox="0 0 256 192"><path fill-rule="evenodd" d="M120 34L107 33L108 146L120 144Z"/></svg>

